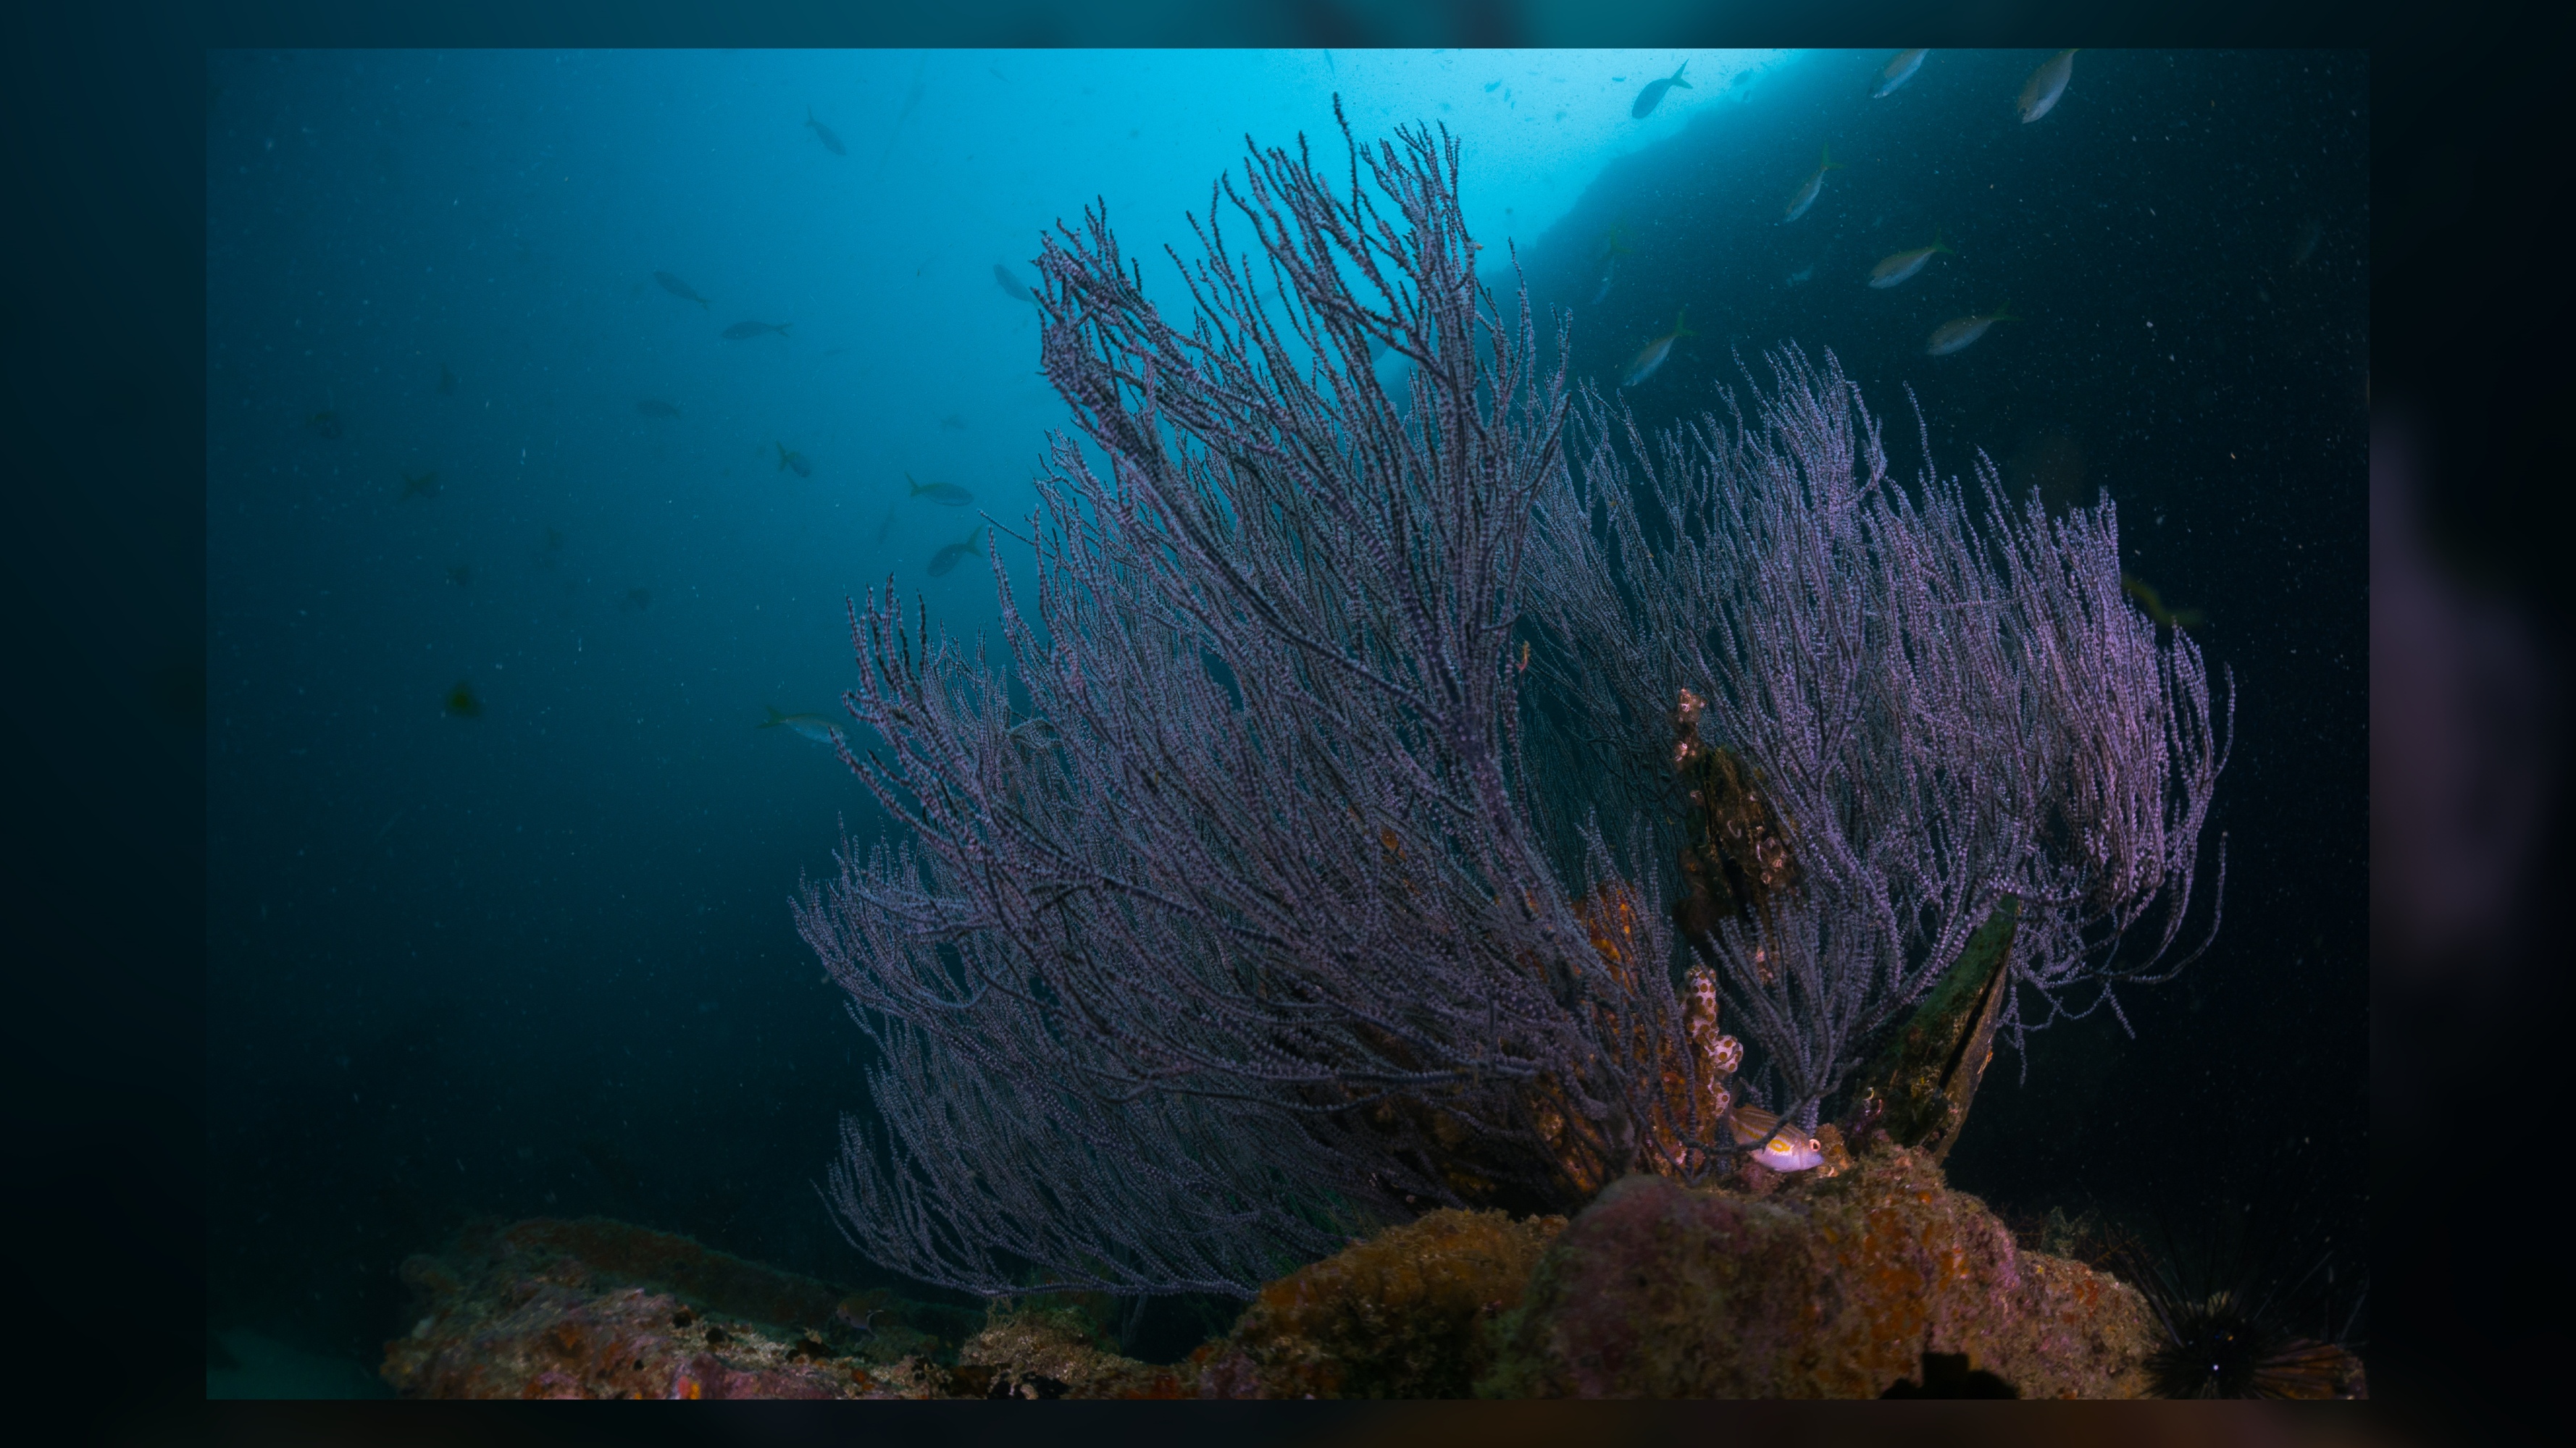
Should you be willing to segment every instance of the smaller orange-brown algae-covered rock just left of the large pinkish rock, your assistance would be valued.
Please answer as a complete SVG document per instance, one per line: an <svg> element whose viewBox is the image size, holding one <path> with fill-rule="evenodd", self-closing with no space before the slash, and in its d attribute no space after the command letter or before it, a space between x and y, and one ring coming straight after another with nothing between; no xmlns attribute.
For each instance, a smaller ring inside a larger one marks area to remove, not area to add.
<svg viewBox="0 0 2576 1448"><path fill-rule="evenodd" d="M1262 1288L1193 1355L1200 1396L1468 1396L1564 1216L1432 1211Z"/></svg>

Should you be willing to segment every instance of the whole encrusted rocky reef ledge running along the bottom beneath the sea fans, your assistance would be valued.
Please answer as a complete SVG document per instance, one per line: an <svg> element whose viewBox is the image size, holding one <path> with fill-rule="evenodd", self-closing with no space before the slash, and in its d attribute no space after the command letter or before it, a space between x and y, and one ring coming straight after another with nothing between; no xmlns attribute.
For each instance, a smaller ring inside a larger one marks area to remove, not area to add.
<svg viewBox="0 0 2576 1448"><path fill-rule="evenodd" d="M1623 1177L1571 1221L1435 1211L1170 1366L1082 1301L842 1293L603 1219L482 1224L404 1281L407 1396L2138 1396L2159 1345L2136 1288L1883 1134L1808 1172Z"/></svg>

